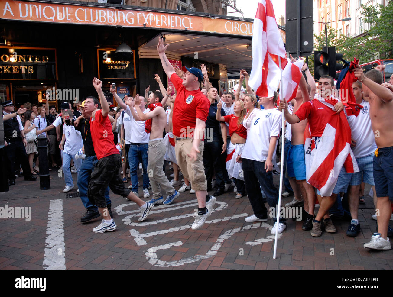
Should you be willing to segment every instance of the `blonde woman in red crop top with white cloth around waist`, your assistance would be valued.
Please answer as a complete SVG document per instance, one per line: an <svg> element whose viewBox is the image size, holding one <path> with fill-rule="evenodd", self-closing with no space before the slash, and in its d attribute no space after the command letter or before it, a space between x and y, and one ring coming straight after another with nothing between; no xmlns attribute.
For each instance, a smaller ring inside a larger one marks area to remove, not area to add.
<svg viewBox="0 0 393 297"><path fill-rule="evenodd" d="M237 100L233 106L234 114L222 117L221 107L222 101L217 103L217 121L229 123L229 134L231 136L227 151L226 170L228 171L229 178L232 177L236 184L237 194L235 197L242 198L246 195L246 187L244 186L241 163L236 162L236 157L241 155L244 144L246 143L247 129L242 125L244 116L246 116L246 110L244 109L243 101Z"/></svg>

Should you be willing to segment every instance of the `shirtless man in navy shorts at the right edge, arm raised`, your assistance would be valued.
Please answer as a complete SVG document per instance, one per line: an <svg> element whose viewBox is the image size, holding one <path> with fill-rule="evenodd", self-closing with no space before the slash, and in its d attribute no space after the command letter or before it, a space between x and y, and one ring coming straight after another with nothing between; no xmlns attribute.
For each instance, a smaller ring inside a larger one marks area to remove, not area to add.
<svg viewBox="0 0 393 297"><path fill-rule="evenodd" d="M387 226L391 217L391 202L393 200L393 128L391 115L393 113L393 92L382 86L382 74L378 70L369 70L364 74L362 68L355 68L354 75L363 84L363 93L369 97L371 127L378 147L373 162L373 177L376 190L376 218L378 232L374 233L371 241L364 244L369 249L391 249L387 237ZM378 215L379 211L379 215Z"/></svg>

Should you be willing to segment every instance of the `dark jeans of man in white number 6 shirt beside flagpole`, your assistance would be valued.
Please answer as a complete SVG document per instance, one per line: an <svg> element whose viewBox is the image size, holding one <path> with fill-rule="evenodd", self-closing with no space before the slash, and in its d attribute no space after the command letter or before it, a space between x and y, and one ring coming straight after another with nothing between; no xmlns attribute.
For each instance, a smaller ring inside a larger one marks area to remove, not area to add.
<svg viewBox="0 0 393 297"><path fill-rule="evenodd" d="M250 159L242 159L242 169L244 173L244 183L248 192L252 210L257 218L268 218L268 210L262 200L262 191L266 194L266 200L269 207L274 207L273 218L276 220L278 204L278 191L273 184L273 174L271 171L264 170L265 162L259 162ZM261 186L261 188L259 187ZM281 205L280 205L281 206ZM286 223L286 218L280 218L281 223Z"/></svg>

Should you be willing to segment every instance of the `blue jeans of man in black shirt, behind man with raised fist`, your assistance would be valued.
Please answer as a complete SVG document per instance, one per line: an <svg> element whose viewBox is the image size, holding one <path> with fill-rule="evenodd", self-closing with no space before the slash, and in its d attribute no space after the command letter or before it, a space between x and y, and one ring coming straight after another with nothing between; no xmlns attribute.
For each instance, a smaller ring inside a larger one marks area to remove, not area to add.
<svg viewBox="0 0 393 297"><path fill-rule="evenodd" d="M81 196L83 206L92 211L97 211L98 208L90 202L87 196L87 188L90 182L90 175L92 174L97 162L98 159L96 156L86 156L78 175L79 196ZM107 200L107 204L112 203L109 198L109 187L107 187L107 190L105 191L105 199Z"/></svg>

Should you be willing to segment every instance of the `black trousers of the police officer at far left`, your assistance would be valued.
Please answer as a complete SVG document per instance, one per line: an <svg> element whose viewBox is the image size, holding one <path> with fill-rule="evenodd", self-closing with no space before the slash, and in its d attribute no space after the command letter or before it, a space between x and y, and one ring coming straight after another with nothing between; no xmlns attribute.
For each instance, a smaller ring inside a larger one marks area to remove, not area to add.
<svg viewBox="0 0 393 297"><path fill-rule="evenodd" d="M11 144L7 145L5 149L7 154L8 179L15 180L15 157L17 157L20 165L22 165L25 179L28 178L31 175L29 158L26 154L26 148L24 147L22 140L17 140L14 143L11 142Z"/></svg>

